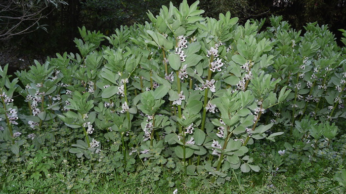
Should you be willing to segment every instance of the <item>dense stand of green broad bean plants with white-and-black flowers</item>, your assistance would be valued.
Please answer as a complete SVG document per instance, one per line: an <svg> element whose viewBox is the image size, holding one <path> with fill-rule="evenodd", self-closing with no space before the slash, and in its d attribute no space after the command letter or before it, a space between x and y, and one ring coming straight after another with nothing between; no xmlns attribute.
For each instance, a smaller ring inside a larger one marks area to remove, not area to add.
<svg viewBox="0 0 346 194"><path fill-rule="evenodd" d="M260 170L248 155L256 140L335 137L293 130L306 119L346 117L345 47L326 26L307 24L301 36L273 16L261 31L263 20L202 17L198 3L163 6L109 37L80 28L79 53L36 61L12 81L1 69L1 152L45 144L36 132L54 122L79 134L68 145L77 157L117 152L118 173L154 163L221 184L234 170ZM19 116L28 137L17 127L14 92L28 105ZM311 127L331 128L323 123Z"/></svg>

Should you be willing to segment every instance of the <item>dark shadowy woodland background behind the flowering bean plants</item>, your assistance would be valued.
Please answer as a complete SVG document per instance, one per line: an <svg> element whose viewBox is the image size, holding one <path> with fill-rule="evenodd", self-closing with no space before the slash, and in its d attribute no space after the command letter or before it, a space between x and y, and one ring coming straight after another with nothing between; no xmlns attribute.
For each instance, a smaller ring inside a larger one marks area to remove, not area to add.
<svg viewBox="0 0 346 194"><path fill-rule="evenodd" d="M182 0L172 1L178 6ZM188 3L192 4L194 1L188 0ZM303 25L308 22L328 24L337 39L341 37L338 29L346 27L346 0L200 1L200 9L205 10L204 16L218 18L219 13L230 11L232 17L239 17L241 24L251 18L268 18L272 14L282 15L283 19L289 21L297 30L304 30ZM4 2L6 0L1 1L0 5ZM147 10L156 15L161 5L169 6L170 0L65 0L65 2L68 4L61 3L57 8L48 6L43 10L42 14L47 16L40 20L40 24L47 25L45 26L47 32L39 28L28 34L0 40L1 66L10 63L14 69L18 69L11 63L21 62L31 65L33 59L54 55L56 52L77 52L73 40L79 37L78 27L86 26L88 30L110 35L121 25L144 23L148 20ZM38 7L44 6L43 1L40 3ZM8 13L0 11L0 16L6 14ZM264 27L268 22L267 19ZM0 28L4 29L2 24L0 21ZM25 25L29 24L23 23L20 28L26 28ZM14 62L10 60L13 57L16 58Z"/></svg>

